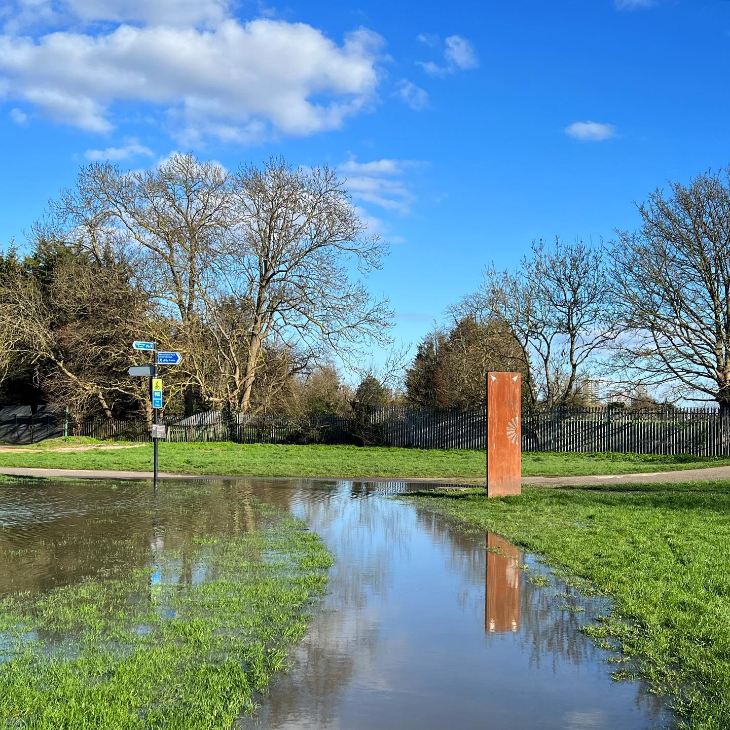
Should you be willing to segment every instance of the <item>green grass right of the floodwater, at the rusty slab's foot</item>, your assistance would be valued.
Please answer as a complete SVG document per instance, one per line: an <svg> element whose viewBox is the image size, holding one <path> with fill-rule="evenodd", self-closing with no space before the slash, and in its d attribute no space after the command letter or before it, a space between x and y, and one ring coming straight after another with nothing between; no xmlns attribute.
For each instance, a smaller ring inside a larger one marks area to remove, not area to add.
<svg viewBox="0 0 730 730"><path fill-rule="evenodd" d="M618 640L653 691L675 697L687 727L730 727L730 481L413 499L612 596L610 617L586 633Z"/></svg>

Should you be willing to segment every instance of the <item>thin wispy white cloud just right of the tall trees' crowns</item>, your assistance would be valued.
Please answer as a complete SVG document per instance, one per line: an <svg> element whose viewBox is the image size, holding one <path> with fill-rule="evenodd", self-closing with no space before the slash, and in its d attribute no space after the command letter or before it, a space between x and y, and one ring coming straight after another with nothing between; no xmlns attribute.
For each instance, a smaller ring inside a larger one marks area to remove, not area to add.
<svg viewBox="0 0 730 730"><path fill-rule="evenodd" d="M370 162L350 159L338 166L354 199L402 214L410 212L415 196L402 180L404 174L422 163L384 158Z"/></svg>

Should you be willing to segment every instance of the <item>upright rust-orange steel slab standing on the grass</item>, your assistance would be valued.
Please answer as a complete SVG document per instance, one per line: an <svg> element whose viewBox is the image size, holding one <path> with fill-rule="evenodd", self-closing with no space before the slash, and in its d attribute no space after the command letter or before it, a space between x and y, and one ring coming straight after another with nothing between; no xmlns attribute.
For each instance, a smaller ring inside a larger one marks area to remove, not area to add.
<svg viewBox="0 0 730 730"><path fill-rule="evenodd" d="M518 372L487 373L487 496L522 491L521 385Z"/></svg>

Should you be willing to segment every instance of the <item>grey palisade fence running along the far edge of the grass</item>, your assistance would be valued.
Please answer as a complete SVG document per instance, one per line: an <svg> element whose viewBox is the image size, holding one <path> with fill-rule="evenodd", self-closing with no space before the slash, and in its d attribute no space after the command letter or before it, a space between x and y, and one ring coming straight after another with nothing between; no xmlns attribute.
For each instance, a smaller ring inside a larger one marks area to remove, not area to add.
<svg viewBox="0 0 730 730"><path fill-rule="evenodd" d="M44 416L47 422L49 416ZM424 449L483 449L483 410L439 410L393 406L358 416L288 418L204 412L166 418L171 442L233 441L270 444L356 444ZM48 434L58 428L46 423ZM100 439L149 441L139 420L88 420L72 433ZM730 456L730 415L718 410L672 408L627 411L596 407L523 412L523 451L635 452Z"/></svg>

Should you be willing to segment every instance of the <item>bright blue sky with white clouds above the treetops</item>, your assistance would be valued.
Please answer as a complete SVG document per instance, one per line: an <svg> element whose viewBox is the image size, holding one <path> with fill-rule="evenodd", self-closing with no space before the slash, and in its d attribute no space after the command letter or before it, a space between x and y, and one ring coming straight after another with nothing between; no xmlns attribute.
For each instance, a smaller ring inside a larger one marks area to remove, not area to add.
<svg viewBox="0 0 730 730"><path fill-rule="evenodd" d="M610 238L730 162L730 2L15 0L0 11L0 241L78 166L283 154L350 180L418 340L531 239Z"/></svg>

